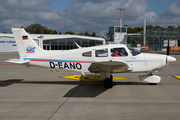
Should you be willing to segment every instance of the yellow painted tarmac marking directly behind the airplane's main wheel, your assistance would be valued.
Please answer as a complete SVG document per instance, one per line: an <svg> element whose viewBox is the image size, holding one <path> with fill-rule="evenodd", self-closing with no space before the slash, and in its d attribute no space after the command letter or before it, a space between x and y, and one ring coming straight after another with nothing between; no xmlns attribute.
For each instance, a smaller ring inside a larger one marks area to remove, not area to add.
<svg viewBox="0 0 180 120"><path fill-rule="evenodd" d="M100 78L100 75L69 75L69 76L62 76L62 78L73 79L73 80L80 80L80 81L102 81L103 79ZM113 77L113 80L124 80L128 78L120 78L120 77Z"/></svg>

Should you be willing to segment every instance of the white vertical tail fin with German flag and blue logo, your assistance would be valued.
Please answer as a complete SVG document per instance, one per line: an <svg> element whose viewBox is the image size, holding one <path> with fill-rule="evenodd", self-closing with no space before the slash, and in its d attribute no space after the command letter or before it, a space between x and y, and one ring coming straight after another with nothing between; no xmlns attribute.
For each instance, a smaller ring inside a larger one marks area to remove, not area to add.
<svg viewBox="0 0 180 120"><path fill-rule="evenodd" d="M20 59L45 52L23 28L12 28Z"/></svg>

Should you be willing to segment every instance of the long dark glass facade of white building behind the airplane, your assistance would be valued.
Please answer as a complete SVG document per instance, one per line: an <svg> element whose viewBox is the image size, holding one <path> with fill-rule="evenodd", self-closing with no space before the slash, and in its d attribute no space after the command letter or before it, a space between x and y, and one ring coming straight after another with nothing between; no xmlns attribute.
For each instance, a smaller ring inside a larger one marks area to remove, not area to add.
<svg viewBox="0 0 180 120"><path fill-rule="evenodd" d="M78 48L76 42L81 47L90 47L96 45L102 45L101 40L90 40L81 38L65 38L65 39L53 39L53 40L43 40L44 50L70 50Z"/></svg>

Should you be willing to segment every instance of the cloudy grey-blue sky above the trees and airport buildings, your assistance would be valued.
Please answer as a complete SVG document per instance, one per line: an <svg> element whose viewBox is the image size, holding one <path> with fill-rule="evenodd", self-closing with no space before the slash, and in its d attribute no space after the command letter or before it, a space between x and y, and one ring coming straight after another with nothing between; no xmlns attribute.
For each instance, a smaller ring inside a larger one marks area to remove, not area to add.
<svg viewBox="0 0 180 120"><path fill-rule="evenodd" d="M41 24L57 32L99 33L118 26L123 11L123 25L180 26L180 0L0 0L0 32L12 27Z"/></svg>

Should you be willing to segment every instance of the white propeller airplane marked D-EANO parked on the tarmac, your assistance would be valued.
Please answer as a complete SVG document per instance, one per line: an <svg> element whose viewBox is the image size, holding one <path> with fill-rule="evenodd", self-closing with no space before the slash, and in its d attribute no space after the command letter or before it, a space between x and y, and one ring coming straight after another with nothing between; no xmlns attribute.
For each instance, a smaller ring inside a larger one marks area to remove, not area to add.
<svg viewBox="0 0 180 120"><path fill-rule="evenodd" d="M161 78L152 75L169 62L176 59L161 54L141 53L128 48L124 44L109 44L66 51L46 51L40 48L23 28L12 28L18 47L19 59L9 59L6 62L39 66L46 68L67 69L84 73L98 73L103 78L105 88L113 87L111 73L147 73L139 79L156 85Z"/></svg>

